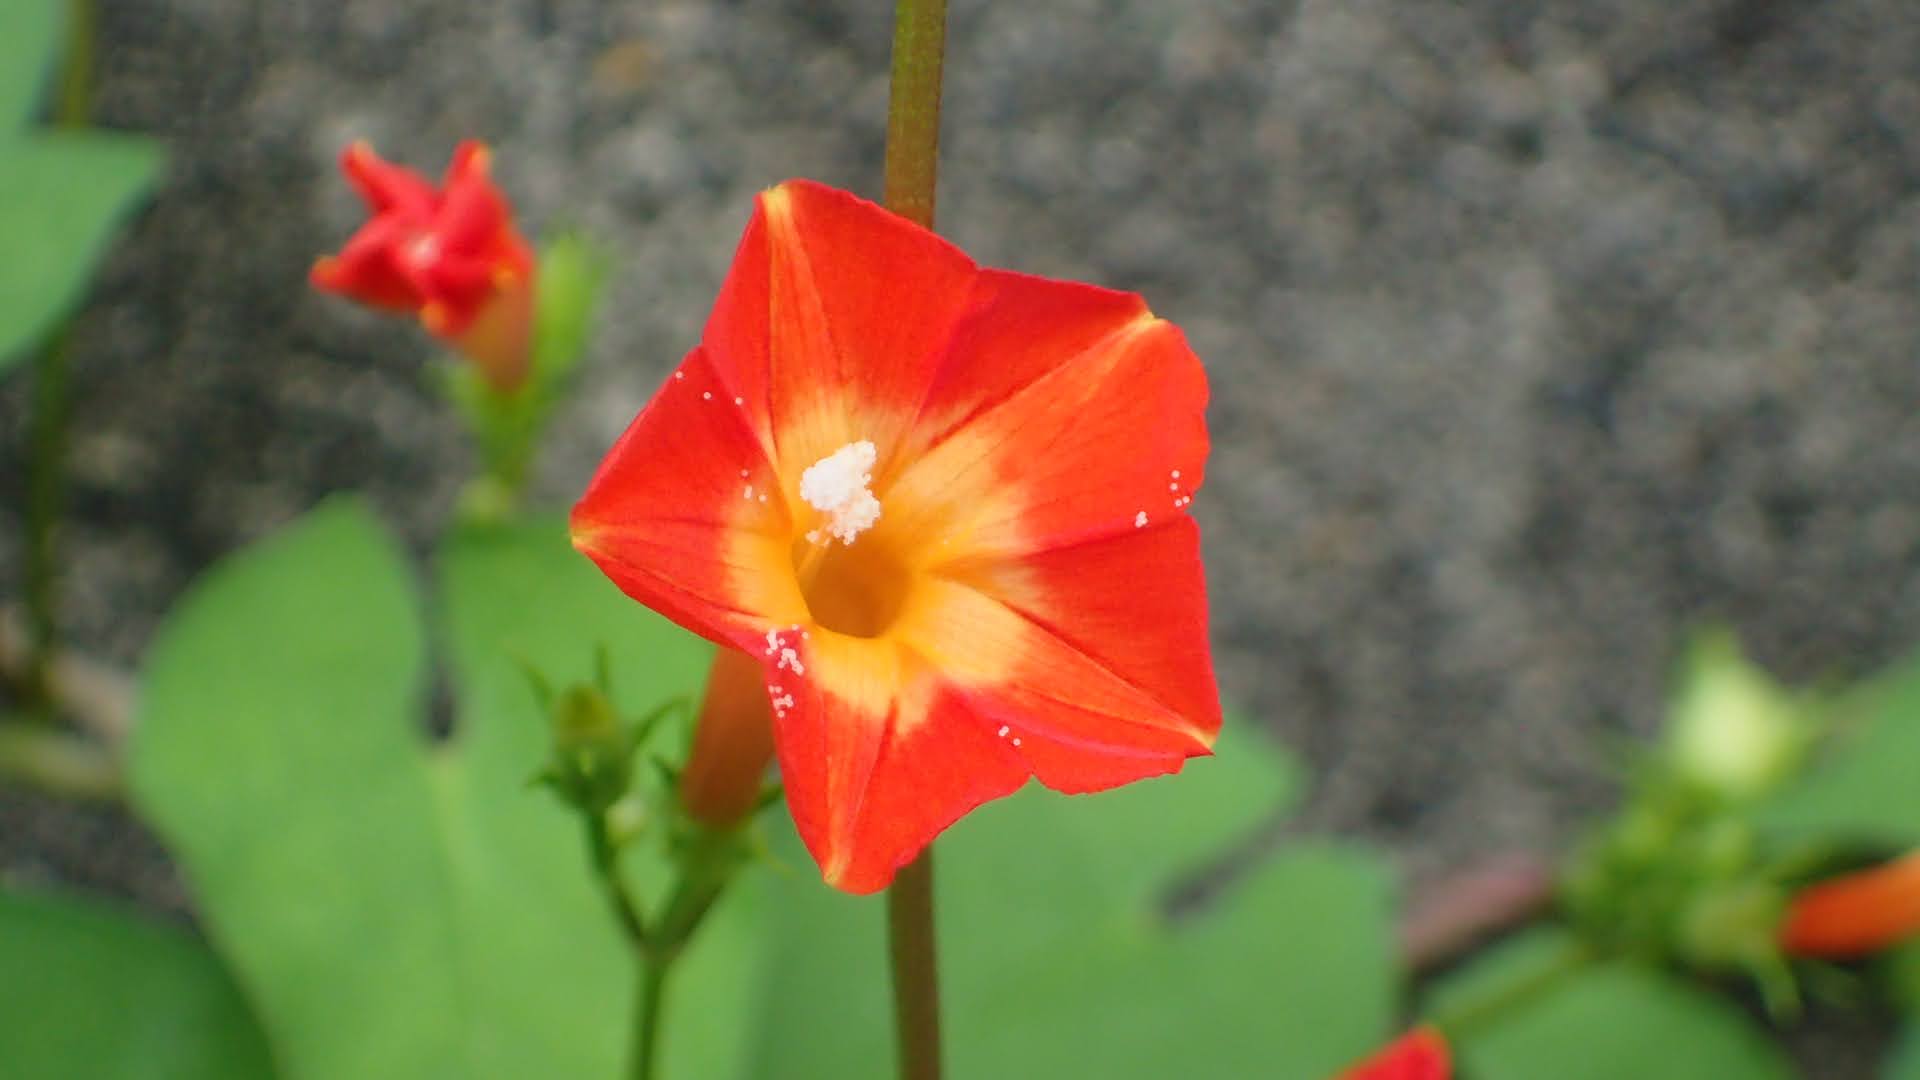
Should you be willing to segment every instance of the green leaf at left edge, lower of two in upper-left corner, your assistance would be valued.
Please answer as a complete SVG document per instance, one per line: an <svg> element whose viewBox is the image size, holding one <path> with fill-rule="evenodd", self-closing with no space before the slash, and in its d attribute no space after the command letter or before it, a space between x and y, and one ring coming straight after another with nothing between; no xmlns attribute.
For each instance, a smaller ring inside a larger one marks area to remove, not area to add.
<svg viewBox="0 0 1920 1080"><path fill-rule="evenodd" d="M157 144L131 135L0 135L0 371L79 304L157 169Z"/></svg>

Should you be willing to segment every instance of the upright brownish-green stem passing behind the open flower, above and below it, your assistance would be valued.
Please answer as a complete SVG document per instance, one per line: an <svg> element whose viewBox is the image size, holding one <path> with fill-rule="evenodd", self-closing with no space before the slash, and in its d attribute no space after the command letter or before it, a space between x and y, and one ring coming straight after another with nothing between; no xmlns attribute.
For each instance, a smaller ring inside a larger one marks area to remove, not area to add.
<svg viewBox="0 0 1920 1080"><path fill-rule="evenodd" d="M933 227L941 163L941 67L947 0L899 0L893 8L893 81L887 96L887 209ZM933 930L933 847L887 890L893 1015L900 1078L941 1076L941 988Z"/></svg>

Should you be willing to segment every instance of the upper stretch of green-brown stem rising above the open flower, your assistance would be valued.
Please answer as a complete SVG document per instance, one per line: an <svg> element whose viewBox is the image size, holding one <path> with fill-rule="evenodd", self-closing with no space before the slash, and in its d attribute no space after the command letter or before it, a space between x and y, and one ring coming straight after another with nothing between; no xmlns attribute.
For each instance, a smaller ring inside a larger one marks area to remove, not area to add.
<svg viewBox="0 0 1920 1080"><path fill-rule="evenodd" d="M893 83L887 98L887 209L933 229L941 163L941 65L947 0L893 8Z"/></svg>

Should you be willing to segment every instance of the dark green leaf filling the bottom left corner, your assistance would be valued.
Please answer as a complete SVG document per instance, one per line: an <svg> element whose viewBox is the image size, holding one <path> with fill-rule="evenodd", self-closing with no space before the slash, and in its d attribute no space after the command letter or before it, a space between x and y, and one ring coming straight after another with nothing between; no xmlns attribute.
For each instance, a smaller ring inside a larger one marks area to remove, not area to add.
<svg viewBox="0 0 1920 1080"><path fill-rule="evenodd" d="M259 1080L267 1043L196 940L102 903L0 892L0 1055L13 1080Z"/></svg>

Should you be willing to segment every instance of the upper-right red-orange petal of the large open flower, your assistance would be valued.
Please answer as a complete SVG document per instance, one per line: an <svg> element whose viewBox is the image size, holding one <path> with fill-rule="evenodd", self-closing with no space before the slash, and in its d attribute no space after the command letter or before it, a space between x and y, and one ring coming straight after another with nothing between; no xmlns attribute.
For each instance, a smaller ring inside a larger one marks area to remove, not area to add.
<svg viewBox="0 0 1920 1080"><path fill-rule="evenodd" d="M1121 294L983 277L1000 298L968 315L943 369L941 402L929 402L935 427L943 415L956 427L883 496L912 513L889 528L908 544L945 544L950 557L977 559L1185 517L1204 479L1208 390L1181 331ZM1035 354L1021 357L1006 327L1018 334L1039 325L1046 306L1062 311L1062 327L1037 334ZM1052 367L1041 356L1075 346Z"/></svg>

